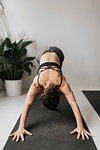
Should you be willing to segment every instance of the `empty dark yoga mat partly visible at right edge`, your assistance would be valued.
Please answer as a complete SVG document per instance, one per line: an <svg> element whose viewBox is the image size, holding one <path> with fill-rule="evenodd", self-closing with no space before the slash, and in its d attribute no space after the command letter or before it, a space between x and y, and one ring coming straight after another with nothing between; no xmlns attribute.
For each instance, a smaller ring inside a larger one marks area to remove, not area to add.
<svg viewBox="0 0 100 150"><path fill-rule="evenodd" d="M100 91L82 91L100 116Z"/></svg>

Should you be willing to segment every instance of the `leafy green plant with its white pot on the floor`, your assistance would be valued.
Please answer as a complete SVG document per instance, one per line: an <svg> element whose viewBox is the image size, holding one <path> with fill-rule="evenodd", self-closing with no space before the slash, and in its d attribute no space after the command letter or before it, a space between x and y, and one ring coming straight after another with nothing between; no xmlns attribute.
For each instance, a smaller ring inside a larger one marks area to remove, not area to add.
<svg viewBox="0 0 100 150"><path fill-rule="evenodd" d="M25 56L26 47L32 42L23 39L11 42L9 37L0 40L0 78L5 82L8 96L21 95L23 73L26 71L28 75L31 74L35 57Z"/></svg>

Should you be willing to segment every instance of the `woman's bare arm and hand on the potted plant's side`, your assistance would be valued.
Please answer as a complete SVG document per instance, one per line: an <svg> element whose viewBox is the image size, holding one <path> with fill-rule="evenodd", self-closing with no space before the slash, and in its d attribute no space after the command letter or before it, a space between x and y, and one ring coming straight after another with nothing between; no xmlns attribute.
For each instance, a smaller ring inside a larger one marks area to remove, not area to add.
<svg viewBox="0 0 100 150"><path fill-rule="evenodd" d="M13 139L12 139L13 141L16 140L16 142L18 142L20 137L21 137L22 141L24 141L24 134L32 135L30 132L25 130L25 123L26 123L26 119L27 119L29 109L30 109L30 107L31 107L31 105L32 105L32 103L35 99L35 95L38 92L40 92L40 90L41 89L35 83L35 79L34 79L33 83L30 86L30 89L27 93L26 102L25 102L24 109L22 111L21 118L20 118L19 128L16 132L12 133L9 136L9 137L14 136Z"/></svg>

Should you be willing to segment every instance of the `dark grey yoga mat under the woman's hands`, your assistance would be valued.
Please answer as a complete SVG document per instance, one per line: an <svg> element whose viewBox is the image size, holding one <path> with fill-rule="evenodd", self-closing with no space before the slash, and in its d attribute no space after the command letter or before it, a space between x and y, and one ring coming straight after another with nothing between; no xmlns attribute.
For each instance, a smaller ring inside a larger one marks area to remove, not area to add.
<svg viewBox="0 0 100 150"><path fill-rule="evenodd" d="M83 141L76 139L77 134L70 135L76 128L76 121L64 95L60 97L58 108L62 114L42 108L37 95L26 121L26 129L33 136L26 135L25 142L18 143L12 142L11 137L4 150L97 150L92 138ZM12 133L18 126L19 119ZM85 123L84 126L87 128Z"/></svg>

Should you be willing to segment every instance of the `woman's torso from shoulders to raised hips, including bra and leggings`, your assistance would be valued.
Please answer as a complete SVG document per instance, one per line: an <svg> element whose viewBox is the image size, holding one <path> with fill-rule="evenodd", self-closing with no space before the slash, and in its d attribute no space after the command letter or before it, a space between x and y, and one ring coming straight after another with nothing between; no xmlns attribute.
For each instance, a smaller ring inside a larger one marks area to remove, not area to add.
<svg viewBox="0 0 100 150"><path fill-rule="evenodd" d="M39 63L37 81L40 87L49 85L60 87L62 83L63 52L57 47L47 47L37 53L36 60Z"/></svg>

